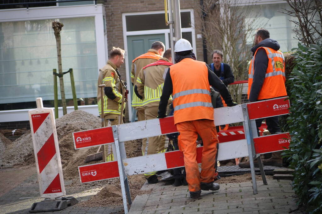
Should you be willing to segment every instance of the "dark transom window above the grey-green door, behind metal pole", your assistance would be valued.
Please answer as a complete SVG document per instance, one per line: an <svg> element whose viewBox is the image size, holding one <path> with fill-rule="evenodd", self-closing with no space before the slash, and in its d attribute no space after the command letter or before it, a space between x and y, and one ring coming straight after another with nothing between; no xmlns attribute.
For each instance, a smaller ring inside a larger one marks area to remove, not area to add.
<svg viewBox="0 0 322 214"><path fill-rule="evenodd" d="M181 12L181 27L191 28L190 12ZM126 30L157 30L169 29L164 13L126 16Z"/></svg>

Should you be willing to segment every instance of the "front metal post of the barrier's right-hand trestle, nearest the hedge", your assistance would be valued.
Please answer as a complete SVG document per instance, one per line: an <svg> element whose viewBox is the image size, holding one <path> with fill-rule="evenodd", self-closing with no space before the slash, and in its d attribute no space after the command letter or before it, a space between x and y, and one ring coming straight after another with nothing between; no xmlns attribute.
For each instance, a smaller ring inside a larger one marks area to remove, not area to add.
<svg viewBox="0 0 322 214"><path fill-rule="evenodd" d="M256 174L255 174L255 166L254 166L255 149L254 149L254 142L253 142L253 137L251 133L251 124L248 116L247 104L242 104L242 112L244 116L244 122L243 122L244 132L247 140L249 161L251 166L251 180L253 182L253 193L257 194Z"/></svg>

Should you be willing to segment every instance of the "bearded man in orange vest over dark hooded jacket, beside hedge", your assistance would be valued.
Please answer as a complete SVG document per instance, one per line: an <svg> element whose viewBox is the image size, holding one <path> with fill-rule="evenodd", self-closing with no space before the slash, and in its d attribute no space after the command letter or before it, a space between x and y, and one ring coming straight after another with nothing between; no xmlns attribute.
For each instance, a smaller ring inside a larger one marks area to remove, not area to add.
<svg viewBox="0 0 322 214"><path fill-rule="evenodd" d="M250 102L287 96L285 88L285 59L279 51L279 43L270 39L270 32L258 29L255 34L255 46L251 48L253 58L248 70L248 100ZM279 116L256 120L257 133L263 120L266 120L270 134L281 132ZM283 166L281 152L273 152L272 157L262 161L264 165ZM254 164L258 167L257 160ZM239 164L241 168L250 168L250 162Z"/></svg>

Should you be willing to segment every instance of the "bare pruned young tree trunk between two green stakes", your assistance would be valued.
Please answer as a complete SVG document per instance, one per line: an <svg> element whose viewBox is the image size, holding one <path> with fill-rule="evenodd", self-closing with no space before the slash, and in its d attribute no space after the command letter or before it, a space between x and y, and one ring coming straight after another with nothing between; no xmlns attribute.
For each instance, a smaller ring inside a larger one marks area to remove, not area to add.
<svg viewBox="0 0 322 214"><path fill-rule="evenodd" d="M64 79L62 74L62 49L61 49L61 39L60 39L60 31L64 25L59 21L52 22L52 29L54 29L54 34L56 38L57 44L57 61L58 61L58 72L59 76L59 83L62 95L62 112L63 115L67 114L67 107L66 107L66 98L65 98L65 88L64 88Z"/></svg>

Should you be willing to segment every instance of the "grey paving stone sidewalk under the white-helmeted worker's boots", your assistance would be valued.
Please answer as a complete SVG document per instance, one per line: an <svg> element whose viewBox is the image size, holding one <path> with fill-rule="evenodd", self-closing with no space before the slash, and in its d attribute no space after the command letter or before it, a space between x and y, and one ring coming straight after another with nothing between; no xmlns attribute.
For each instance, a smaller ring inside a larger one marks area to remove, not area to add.
<svg viewBox="0 0 322 214"><path fill-rule="evenodd" d="M289 213L297 209L290 180L268 180L268 185L257 181L258 194L253 194L252 183L221 184L218 191L202 191L201 198L190 198L187 186L143 185L151 194L138 195L129 213ZM292 212L301 213L301 212Z"/></svg>

